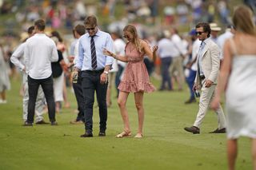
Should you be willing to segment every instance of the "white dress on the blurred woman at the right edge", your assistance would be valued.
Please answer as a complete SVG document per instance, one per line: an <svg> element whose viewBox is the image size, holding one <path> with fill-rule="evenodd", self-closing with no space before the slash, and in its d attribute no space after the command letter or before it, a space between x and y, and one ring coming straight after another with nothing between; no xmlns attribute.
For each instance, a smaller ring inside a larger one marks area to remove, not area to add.
<svg viewBox="0 0 256 170"><path fill-rule="evenodd" d="M226 89L227 138L256 138L256 55L233 58Z"/></svg>

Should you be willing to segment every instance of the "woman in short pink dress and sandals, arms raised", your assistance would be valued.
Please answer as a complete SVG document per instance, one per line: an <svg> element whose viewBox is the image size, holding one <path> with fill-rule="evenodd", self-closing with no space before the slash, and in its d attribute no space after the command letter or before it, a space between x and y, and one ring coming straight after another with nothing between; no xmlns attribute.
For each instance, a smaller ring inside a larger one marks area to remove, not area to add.
<svg viewBox="0 0 256 170"><path fill-rule="evenodd" d="M104 50L106 55L114 57L119 61L128 62L122 81L118 86L118 89L120 90L118 106L122 115L124 129L123 132L116 137L120 138L131 135L126 101L129 93L134 93L135 105L138 112L138 132L134 137L141 138L144 122L143 94L144 92L153 92L155 89L154 85L150 83L150 77L147 73L146 65L143 62L143 57L148 56L153 59L156 56L158 47L154 46L152 52L150 45L138 38L137 30L135 26L132 25L128 25L123 29L123 36L128 41L125 49L125 56L118 56L107 49Z"/></svg>

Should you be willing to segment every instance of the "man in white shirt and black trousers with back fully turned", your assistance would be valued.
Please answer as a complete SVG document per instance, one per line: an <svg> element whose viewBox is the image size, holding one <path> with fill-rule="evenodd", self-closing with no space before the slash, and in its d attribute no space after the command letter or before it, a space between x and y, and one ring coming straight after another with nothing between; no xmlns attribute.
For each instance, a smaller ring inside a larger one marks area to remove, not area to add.
<svg viewBox="0 0 256 170"><path fill-rule="evenodd" d="M24 49L26 73L28 73L29 105L26 126L33 126L34 107L39 85L46 97L51 125L55 120L55 103L51 62L58 61L57 47L54 41L44 34L46 23L39 19L34 22L35 33L26 40Z"/></svg>

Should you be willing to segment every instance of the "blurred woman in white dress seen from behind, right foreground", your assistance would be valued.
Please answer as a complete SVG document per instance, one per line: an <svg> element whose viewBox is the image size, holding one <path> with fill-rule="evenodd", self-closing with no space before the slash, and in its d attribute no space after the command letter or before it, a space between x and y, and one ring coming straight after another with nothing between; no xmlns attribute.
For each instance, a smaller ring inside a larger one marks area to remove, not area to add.
<svg viewBox="0 0 256 170"><path fill-rule="evenodd" d="M235 167L239 136L250 137L256 169L256 30L252 11L246 6L238 6L233 23L236 33L225 42L217 93L211 106L218 108L221 93L225 90L229 169Z"/></svg>

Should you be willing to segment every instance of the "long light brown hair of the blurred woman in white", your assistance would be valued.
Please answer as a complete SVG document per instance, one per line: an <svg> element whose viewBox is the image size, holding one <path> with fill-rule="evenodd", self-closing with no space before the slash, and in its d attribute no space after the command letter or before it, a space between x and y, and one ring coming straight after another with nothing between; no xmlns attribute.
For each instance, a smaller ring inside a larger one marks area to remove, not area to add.
<svg viewBox="0 0 256 170"><path fill-rule="evenodd" d="M236 7L232 20L235 30L246 34L256 35L253 13L247 6Z"/></svg>

